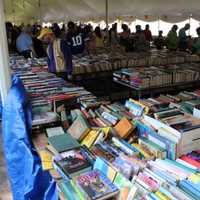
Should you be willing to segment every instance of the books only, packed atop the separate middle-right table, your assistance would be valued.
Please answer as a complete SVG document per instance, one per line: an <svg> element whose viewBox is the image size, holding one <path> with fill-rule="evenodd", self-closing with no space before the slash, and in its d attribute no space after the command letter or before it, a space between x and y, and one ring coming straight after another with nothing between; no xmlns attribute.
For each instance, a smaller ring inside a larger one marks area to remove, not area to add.
<svg viewBox="0 0 200 200"><path fill-rule="evenodd" d="M113 79L141 89L185 84L200 80L199 64L185 63L124 68L115 71Z"/></svg>

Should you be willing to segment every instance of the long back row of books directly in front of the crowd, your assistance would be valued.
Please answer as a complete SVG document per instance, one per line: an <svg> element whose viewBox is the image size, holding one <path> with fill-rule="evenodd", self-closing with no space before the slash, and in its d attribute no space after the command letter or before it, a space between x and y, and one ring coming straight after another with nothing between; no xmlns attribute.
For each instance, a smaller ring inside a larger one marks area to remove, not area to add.
<svg viewBox="0 0 200 200"><path fill-rule="evenodd" d="M186 52L168 52L151 50L148 53L126 53L120 47L102 48L89 55L73 57L73 75L78 79L101 73L135 66L180 64L200 61L199 56ZM75 78L76 79L76 78Z"/></svg>

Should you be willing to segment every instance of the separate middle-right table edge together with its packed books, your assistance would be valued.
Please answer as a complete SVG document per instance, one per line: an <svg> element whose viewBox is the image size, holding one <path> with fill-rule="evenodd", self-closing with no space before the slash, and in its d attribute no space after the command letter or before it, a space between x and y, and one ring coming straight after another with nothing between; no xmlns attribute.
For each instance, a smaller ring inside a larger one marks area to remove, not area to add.
<svg viewBox="0 0 200 200"><path fill-rule="evenodd" d="M124 68L113 73L113 80L138 92L158 93L200 86L200 64L184 63L162 66Z"/></svg>

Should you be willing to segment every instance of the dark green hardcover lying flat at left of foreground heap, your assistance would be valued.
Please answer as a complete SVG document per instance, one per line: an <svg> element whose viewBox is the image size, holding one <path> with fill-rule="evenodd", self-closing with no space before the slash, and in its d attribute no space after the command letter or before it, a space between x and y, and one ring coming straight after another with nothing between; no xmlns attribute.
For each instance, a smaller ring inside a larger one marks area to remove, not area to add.
<svg viewBox="0 0 200 200"><path fill-rule="evenodd" d="M49 137L48 142L58 153L80 146L70 134Z"/></svg>

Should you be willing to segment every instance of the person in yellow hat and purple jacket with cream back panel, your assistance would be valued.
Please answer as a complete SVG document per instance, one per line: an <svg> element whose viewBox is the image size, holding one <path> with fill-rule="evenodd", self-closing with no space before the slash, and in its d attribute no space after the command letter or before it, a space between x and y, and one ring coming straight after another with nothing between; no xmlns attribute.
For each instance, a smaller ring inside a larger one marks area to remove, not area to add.
<svg viewBox="0 0 200 200"><path fill-rule="evenodd" d="M38 39L48 44L47 57L49 72L71 80L72 79L72 54L65 40L55 37L49 28L43 28Z"/></svg>

